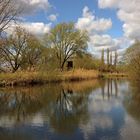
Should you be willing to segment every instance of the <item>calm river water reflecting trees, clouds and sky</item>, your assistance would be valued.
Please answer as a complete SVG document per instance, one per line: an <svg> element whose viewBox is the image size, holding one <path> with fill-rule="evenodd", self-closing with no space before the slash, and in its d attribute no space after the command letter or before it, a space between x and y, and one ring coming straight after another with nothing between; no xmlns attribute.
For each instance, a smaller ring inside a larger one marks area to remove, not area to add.
<svg viewBox="0 0 140 140"><path fill-rule="evenodd" d="M125 80L0 88L0 140L139 140L140 87Z"/></svg>

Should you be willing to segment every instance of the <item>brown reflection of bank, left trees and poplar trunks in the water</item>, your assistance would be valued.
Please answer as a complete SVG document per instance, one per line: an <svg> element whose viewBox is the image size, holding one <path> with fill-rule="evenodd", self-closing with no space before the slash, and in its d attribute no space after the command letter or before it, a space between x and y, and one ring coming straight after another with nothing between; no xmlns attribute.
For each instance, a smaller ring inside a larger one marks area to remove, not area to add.
<svg viewBox="0 0 140 140"><path fill-rule="evenodd" d="M109 100L110 96L114 95L117 97L117 80L108 79L107 81L100 81L100 83L103 99ZM98 81L94 81L58 85L55 88L48 86L43 88L1 89L0 116L7 115L14 119L15 123L18 123L26 120L28 116L31 119L35 113L44 109L46 114L50 114L50 120L53 122L57 120L64 126L64 121L70 124L72 121L80 121L82 117L88 118L86 116L88 114L88 95L98 87ZM106 87L107 89L105 89ZM112 89L114 89L115 94L113 94ZM68 121L70 118L71 121Z"/></svg>

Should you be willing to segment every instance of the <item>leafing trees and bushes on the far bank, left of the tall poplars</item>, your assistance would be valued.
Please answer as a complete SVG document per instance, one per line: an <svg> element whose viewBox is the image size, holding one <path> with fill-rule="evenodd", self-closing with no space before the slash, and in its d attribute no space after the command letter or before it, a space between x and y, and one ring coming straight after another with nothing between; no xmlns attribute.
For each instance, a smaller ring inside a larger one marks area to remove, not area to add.
<svg viewBox="0 0 140 140"><path fill-rule="evenodd" d="M0 70L56 70L66 69L72 60L75 68L97 69L100 61L87 52L86 31L74 23L56 25L42 38L16 26L11 35L0 39Z"/></svg>

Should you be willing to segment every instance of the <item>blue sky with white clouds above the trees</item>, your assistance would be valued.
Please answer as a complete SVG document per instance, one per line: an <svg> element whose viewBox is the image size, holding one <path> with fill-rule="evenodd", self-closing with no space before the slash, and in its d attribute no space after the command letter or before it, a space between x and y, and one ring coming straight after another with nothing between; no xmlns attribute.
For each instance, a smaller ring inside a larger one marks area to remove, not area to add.
<svg viewBox="0 0 140 140"><path fill-rule="evenodd" d="M62 22L87 30L88 50L96 56L103 48L122 56L140 39L140 0L17 0L17 4L24 7L21 25L36 35Z"/></svg>

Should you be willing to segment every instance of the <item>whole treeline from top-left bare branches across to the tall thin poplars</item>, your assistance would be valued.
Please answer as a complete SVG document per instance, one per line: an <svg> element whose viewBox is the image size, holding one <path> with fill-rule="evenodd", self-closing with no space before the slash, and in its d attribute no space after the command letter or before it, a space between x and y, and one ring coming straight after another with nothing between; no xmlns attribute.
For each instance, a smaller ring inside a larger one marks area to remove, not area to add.
<svg viewBox="0 0 140 140"><path fill-rule="evenodd" d="M0 72L65 70L67 62L74 68L97 69L105 72L116 70L117 52L113 64L112 52L107 50L105 62L88 53L89 36L86 31L75 28L74 23L61 23L43 37L29 33L16 21L24 8L16 0L0 1ZM15 23L11 34L6 29Z"/></svg>

